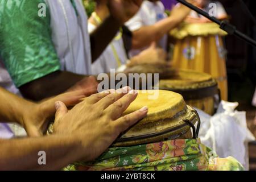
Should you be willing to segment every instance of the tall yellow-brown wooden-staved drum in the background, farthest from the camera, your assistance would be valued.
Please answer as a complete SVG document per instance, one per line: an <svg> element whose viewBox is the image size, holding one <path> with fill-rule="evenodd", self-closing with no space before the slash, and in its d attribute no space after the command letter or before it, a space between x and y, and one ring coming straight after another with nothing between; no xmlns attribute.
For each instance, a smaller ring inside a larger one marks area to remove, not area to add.
<svg viewBox="0 0 256 182"><path fill-rule="evenodd" d="M221 100L228 100L226 50L222 31L216 23L183 23L171 31L176 39L172 57L174 68L209 73L218 82Z"/></svg>

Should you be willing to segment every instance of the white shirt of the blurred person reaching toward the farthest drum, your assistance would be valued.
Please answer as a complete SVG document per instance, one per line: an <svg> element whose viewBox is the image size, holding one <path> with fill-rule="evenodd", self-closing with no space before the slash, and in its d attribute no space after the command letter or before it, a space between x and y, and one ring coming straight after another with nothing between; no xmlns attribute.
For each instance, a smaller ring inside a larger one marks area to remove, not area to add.
<svg viewBox="0 0 256 182"><path fill-rule="evenodd" d="M133 18L126 22L125 25L130 29L130 31L136 31L141 27L151 26L164 18L167 18L167 15L164 13L164 5L162 2L143 1L141 9L133 16ZM163 36L159 41L159 46L166 49L167 35ZM130 51L129 56L135 56L146 48L147 47L142 49L133 49Z"/></svg>

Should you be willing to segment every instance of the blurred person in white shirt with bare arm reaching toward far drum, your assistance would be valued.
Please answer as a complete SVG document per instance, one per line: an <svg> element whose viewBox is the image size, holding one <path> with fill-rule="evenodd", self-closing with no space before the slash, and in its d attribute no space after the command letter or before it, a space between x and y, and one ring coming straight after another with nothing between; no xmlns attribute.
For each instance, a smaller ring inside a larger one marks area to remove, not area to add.
<svg viewBox="0 0 256 182"><path fill-rule="evenodd" d="M188 2L196 3L193 0ZM152 42L157 42L158 46L166 50L168 32L181 23L190 11L188 7L180 5L172 10L172 15L167 17L162 2L144 1L138 13L125 23L133 32L133 49L129 56L138 55Z"/></svg>

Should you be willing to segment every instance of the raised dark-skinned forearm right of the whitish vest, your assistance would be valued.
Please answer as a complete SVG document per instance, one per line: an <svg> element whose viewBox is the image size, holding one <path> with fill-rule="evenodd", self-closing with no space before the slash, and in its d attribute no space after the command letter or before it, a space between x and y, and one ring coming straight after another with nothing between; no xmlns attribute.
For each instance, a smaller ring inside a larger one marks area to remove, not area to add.
<svg viewBox="0 0 256 182"><path fill-rule="evenodd" d="M96 61L109 43L113 40L117 31L122 26L112 16L109 16L90 34L90 46L92 51L92 62Z"/></svg>

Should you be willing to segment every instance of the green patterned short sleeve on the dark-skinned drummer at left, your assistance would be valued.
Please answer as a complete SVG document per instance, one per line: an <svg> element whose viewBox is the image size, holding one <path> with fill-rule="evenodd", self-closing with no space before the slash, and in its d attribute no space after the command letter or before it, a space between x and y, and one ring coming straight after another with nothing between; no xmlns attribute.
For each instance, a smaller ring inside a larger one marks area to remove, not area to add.
<svg viewBox="0 0 256 182"><path fill-rule="evenodd" d="M0 53L19 87L60 70L51 40L49 9L38 15L43 0L0 0Z"/></svg>

